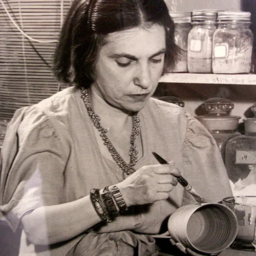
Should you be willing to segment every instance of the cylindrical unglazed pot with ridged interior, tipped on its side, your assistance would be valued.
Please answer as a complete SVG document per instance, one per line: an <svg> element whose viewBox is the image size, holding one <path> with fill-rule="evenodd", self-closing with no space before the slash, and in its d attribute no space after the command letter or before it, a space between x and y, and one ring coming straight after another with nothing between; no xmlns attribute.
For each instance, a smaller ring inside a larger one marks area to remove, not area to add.
<svg viewBox="0 0 256 256"><path fill-rule="evenodd" d="M188 204L170 215L168 232L187 248L200 253L219 253L236 238L238 223L232 210L223 204Z"/></svg>

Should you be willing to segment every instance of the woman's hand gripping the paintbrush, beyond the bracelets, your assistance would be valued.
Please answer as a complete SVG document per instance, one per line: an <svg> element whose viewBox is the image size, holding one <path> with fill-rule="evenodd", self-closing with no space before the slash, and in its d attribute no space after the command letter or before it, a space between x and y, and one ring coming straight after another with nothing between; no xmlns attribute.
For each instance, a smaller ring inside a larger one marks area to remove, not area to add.
<svg viewBox="0 0 256 256"><path fill-rule="evenodd" d="M174 176L173 176L174 175ZM171 164L145 165L116 186L126 205L144 205L166 200L178 184L180 172Z"/></svg>

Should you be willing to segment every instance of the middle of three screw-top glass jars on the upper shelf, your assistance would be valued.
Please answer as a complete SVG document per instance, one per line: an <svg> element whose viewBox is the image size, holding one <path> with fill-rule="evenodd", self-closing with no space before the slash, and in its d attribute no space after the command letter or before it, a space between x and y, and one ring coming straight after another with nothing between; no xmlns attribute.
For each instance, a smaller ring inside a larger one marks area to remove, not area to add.
<svg viewBox="0 0 256 256"><path fill-rule="evenodd" d="M211 73L212 36L217 28L217 11L194 10L188 33L187 70L189 73Z"/></svg>

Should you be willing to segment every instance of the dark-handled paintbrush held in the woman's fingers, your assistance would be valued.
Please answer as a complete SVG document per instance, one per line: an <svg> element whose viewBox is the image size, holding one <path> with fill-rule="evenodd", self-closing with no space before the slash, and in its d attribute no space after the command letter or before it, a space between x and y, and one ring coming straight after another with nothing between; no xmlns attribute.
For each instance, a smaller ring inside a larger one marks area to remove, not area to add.
<svg viewBox="0 0 256 256"><path fill-rule="evenodd" d="M160 164L169 164L166 160L164 160L162 157L160 157L157 153L152 152L152 154ZM189 194L191 194L196 199L196 201L198 203L200 203L200 204L207 203L207 201L205 199L203 199L197 193L197 191L191 185L189 185L188 182L181 175L180 176L176 176L174 174L172 174L172 175L177 178L178 182L184 187L184 189L186 189L188 191Z"/></svg>

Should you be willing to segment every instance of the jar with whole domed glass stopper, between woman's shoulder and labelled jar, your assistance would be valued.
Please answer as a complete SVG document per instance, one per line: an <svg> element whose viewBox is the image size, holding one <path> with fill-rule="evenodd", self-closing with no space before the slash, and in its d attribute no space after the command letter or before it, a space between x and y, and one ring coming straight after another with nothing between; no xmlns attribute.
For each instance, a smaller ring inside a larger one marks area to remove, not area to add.
<svg viewBox="0 0 256 256"><path fill-rule="evenodd" d="M222 159L225 161L225 145L227 141L234 136L241 135L238 132L239 119L241 117L230 115L234 104L225 98L207 99L201 107L206 114L196 116L196 118L214 137L219 146Z"/></svg>

